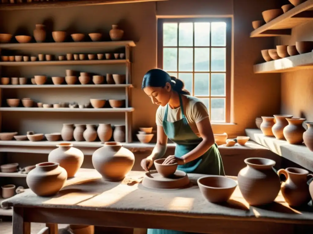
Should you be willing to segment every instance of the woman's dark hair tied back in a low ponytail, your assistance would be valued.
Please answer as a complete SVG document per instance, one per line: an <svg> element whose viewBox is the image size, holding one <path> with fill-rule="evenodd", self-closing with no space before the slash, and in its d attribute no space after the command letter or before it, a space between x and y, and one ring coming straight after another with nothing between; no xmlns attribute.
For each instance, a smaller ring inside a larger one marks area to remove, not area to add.
<svg viewBox="0 0 313 234"><path fill-rule="evenodd" d="M146 87L165 87L166 83L170 83L174 91L180 94L190 95L190 92L184 89L184 82L177 79L174 76L170 76L166 71L162 69L151 69L149 70L142 80L141 89Z"/></svg>

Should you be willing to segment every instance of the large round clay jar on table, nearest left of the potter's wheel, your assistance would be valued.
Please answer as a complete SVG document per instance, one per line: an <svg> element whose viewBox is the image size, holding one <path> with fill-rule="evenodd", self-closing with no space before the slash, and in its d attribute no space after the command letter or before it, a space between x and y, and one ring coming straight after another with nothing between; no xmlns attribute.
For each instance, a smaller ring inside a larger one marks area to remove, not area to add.
<svg viewBox="0 0 313 234"><path fill-rule="evenodd" d="M134 154L119 142L105 142L92 154L92 165L105 180L121 181L135 163Z"/></svg>

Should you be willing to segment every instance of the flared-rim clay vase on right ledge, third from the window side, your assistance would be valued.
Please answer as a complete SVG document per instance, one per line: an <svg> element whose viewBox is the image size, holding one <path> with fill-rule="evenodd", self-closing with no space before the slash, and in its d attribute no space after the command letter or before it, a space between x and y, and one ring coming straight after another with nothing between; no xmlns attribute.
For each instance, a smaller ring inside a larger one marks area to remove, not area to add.
<svg viewBox="0 0 313 234"><path fill-rule="evenodd" d="M288 125L284 128L284 136L289 144L302 144L303 133L305 132L302 126L305 119L303 118L286 118Z"/></svg>

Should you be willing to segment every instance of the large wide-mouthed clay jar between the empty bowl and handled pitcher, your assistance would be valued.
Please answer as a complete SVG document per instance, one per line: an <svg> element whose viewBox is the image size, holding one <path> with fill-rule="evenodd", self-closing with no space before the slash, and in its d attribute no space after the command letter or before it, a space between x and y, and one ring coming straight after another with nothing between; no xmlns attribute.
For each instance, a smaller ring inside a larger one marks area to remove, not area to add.
<svg viewBox="0 0 313 234"><path fill-rule="evenodd" d="M280 178L275 161L267 158L246 158L247 166L239 171L238 186L244 199L252 206L273 202L280 191Z"/></svg>

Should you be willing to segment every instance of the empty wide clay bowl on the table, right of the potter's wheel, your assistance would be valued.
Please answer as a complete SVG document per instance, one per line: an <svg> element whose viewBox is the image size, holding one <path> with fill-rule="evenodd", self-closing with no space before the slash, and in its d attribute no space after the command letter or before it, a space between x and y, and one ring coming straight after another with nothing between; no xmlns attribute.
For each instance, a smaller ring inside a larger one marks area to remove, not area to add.
<svg viewBox="0 0 313 234"><path fill-rule="evenodd" d="M213 203L227 202L237 187L235 180L225 176L203 176L197 182L203 197Z"/></svg>

